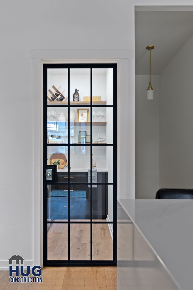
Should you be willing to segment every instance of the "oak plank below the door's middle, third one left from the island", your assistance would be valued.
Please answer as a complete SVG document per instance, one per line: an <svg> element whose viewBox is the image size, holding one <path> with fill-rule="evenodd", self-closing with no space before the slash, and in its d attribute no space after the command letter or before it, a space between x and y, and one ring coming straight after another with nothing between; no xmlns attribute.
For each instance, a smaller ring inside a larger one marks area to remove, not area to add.
<svg viewBox="0 0 193 290"><path fill-rule="evenodd" d="M84 290L85 269L85 267L67 267L61 290Z"/></svg>

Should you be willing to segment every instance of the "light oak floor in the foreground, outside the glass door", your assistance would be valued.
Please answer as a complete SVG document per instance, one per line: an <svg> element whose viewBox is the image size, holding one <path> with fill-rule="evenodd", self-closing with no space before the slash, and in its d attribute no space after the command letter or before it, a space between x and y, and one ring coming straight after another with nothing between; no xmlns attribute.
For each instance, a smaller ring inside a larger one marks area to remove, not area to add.
<svg viewBox="0 0 193 290"><path fill-rule="evenodd" d="M116 267L43 267L42 283L9 283L0 271L1 290L116 290Z"/></svg>

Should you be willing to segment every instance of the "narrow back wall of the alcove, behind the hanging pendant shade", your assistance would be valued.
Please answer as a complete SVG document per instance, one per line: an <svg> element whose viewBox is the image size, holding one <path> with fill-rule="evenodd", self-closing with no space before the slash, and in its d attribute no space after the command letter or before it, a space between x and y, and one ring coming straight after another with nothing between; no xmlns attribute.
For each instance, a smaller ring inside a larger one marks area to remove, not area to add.
<svg viewBox="0 0 193 290"><path fill-rule="evenodd" d="M159 75L147 100L148 75L135 76L135 198L155 198L159 189Z"/></svg>

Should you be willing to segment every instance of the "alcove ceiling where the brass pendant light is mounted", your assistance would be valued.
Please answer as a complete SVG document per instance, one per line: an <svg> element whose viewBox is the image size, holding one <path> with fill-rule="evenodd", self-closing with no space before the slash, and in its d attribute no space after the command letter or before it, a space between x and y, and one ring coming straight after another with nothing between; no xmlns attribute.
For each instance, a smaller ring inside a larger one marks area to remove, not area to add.
<svg viewBox="0 0 193 290"><path fill-rule="evenodd" d="M193 34L193 11L135 12L135 74L148 75L148 45L152 75L159 75Z"/></svg>

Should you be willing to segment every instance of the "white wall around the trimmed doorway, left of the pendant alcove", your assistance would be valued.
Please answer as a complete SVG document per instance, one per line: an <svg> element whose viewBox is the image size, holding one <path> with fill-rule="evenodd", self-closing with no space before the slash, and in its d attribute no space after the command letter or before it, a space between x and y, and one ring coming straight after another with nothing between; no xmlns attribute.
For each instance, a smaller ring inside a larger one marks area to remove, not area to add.
<svg viewBox="0 0 193 290"><path fill-rule="evenodd" d="M159 0L157 5L181 5L180 0ZM186 0L183 5L191 5ZM3 1L1 5L1 75L3 91L0 121L0 268L19 254L33 263L34 192L33 160L33 79L32 49L130 49L128 95L121 95L121 176L122 197L135 196L135 41L134 6L155 5L153 0L103 0L91 2L34 0ZM51 17L52 15L53 18ZM64 56L65 57L65 56ZM121 62L122 65L122 62ZM120 89L122 92L122 90ZM130 108L131 113L126 116ZM37 110L38 111L38 110ZM6 121L6 122L5 122ZM18 129L21 127L22 129ZM4 139L5 137L5 139ZM126 183L126 186L123 186ZM36 222L39 222L37 219ZM37 245L38 247L38 245Z"/></svg>

